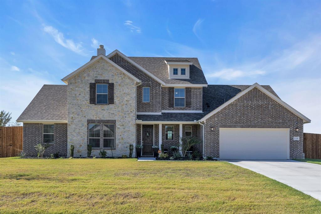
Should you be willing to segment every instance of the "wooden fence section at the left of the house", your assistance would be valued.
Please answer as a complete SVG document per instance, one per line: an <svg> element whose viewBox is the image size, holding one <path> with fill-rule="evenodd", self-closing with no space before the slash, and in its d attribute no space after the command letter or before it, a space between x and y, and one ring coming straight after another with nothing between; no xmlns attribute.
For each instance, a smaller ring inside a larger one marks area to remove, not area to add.
<svg viewBox="0 0 321 214"><path fill-rule="evenodd" d="M20 156L22 126L0 127L0 157Z"/></svg>

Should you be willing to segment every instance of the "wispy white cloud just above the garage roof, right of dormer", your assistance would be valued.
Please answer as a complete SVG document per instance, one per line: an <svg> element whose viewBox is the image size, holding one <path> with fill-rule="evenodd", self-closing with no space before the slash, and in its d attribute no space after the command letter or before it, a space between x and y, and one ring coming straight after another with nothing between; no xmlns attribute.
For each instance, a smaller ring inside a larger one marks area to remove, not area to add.
<svg viewBox="0 0 321 214"><path fill-rule="evenodd" d="M265 75L265 71L241 71L233 68L222 69L221 71L215 72L208 75L208 77L219 77L226 80L236 79L240 77L256 77L258 75Z"/></svg>

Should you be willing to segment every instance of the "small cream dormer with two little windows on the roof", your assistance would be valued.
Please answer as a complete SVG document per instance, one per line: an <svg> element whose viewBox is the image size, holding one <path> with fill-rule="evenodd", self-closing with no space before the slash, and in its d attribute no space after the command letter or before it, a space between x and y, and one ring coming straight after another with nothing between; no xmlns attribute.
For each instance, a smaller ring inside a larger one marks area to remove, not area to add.
<svg viewBox="0 0 321 214"><path fill-rule="evenodd" d="M169 79L189 79L189 67L193 65L188 60L165 60L168 66Z"/></svg>

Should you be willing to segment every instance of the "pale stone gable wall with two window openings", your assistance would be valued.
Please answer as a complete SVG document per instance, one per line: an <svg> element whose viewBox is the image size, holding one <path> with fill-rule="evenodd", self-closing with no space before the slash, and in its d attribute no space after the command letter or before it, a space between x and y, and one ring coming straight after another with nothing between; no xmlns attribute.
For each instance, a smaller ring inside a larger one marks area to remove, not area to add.
<svg viewBox="0 0 321 214"><path fill-rule="evenodd" d="M89 104L89 84L95 79L108 79L114 83L114 104ZM136 141L135 81L104 59L68 81L68 151L70 145L74 145L74 157L87 156L87 120L116 120L113 155L128 156L129 145ZM99 149L93 149L91 155L99 156L98 153ZM107 156L111 156L110 150L107 150Z"/></svg>

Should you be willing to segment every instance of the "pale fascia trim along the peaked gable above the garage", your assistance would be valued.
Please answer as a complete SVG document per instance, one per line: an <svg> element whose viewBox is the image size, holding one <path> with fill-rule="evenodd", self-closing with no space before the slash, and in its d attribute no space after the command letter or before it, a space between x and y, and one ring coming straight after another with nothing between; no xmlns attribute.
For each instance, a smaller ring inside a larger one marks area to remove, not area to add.
<svg viewBox="0 0 321 214"><path fill-rule="evenodd" d="M294 108L292 108L290 105L288 105L287 103L285 103L284 101L282 101L280 98L278 98L277 96L275 96L274 94L272 94L271 92L269 92L268 90L266 90L265 88L263 88L261 85L259 85L258 83L255 83L253 85L251 85L250 87L248 87L247 89L245 89L244 91L241 91L239 94L235 95L233 98L231 98L230 100L228 100L226 103L222 104L221 106L219 106L218 108L214 109L213 111L211 111L210 113L208 113L207 115L205 115L200 121L204 121L206 119L208 119L209 117L211 117L213 114L217 113L218 111L220 111L221 109L223 109L224 107L226 107L227 105L229 105L230 103L234 102L236 99L238 99L239 97L241 97L242 95L246 94L247 92L249 92L250 90L252 90L253 88L258 88L259 90L261 90L263 93L265 93L266 95L268 95L269 97L271 97L273 100L275 100L276 102L278 102L279 104L281 104L282 106L284 106L285 108L287 108L289 111L291 111L293 114L297 115L299 118L301 118L303 120L303 123L310 123L311 120L308 119L306 116L304 116L303 114L301 114L299 111L295 110Z"/></svg>

